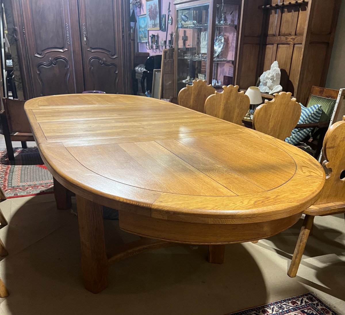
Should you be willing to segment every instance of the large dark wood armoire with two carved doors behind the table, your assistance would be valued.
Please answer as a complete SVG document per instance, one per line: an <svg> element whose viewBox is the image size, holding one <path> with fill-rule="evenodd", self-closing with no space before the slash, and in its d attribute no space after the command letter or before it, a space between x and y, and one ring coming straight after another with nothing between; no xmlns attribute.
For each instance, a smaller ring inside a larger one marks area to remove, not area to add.
<svg viewBox="0 0 345 315"><path fill-rule="evenodd" d="M127 0L12 0L24 97L130 93Z"/></svg>

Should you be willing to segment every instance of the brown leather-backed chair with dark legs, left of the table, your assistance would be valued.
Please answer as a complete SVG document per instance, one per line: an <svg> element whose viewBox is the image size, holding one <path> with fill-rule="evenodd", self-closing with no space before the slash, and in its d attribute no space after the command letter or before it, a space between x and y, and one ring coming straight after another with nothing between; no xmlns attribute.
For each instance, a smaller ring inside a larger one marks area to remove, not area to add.
<svg viewBox="0 0 345 315"><path fill-rule="evenodd" d="M27 141L35 141L31 133L29 120L24 111L26 101L3 98L4 111L0 113L3 135L5 137L8 159L14 161L12 141L21 141L23 149Z"/></svg>

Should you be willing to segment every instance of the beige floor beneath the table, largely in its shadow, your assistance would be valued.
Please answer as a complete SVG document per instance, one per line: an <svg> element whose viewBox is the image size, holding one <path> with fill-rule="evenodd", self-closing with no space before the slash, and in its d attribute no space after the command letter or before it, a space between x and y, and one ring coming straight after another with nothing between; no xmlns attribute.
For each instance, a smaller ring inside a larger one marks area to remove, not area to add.
<svg viewBox="0 0 345 315"><path fill-rule="evenodd" d="M345 314L343 215L315 219L296 278L286 272L302 219L258 244L228 245L223 265L205 260L206 246L131 257L110 267L109 287L94 295L81 284L78 222L70 210L57 210L52 194L0 207L9 221L0 231L9 251L0 275L10 292L0 299L0 314L224 315L308 291ZM109 244L137 238L118 221L105 221L105 229Z"/></svg>

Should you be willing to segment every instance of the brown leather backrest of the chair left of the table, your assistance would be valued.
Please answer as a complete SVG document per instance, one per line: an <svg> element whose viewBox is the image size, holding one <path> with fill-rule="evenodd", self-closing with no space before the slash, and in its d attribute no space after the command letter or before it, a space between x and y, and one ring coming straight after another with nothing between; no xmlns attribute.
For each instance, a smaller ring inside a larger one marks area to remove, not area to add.
<svg viewBox="0 0 345 315"><path fill-rule="evenodd" d="M9 132L31 133L29 120L24 111L26 101L5 97L2 98L2 101Z"/></svg>

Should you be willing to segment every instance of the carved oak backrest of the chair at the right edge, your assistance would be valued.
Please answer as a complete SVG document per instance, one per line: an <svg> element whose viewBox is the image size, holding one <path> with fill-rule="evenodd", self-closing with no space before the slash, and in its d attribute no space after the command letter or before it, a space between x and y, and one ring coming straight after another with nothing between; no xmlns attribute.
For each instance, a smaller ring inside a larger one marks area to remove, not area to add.
<svg viewBox="0 0 345 315"><path fill-rule="evenodd" d="M345 203L345 116L326 132L323 142L323 165L328 169L325 185L315 204ZM326 172L327 173L327 172Z"/></svg>

